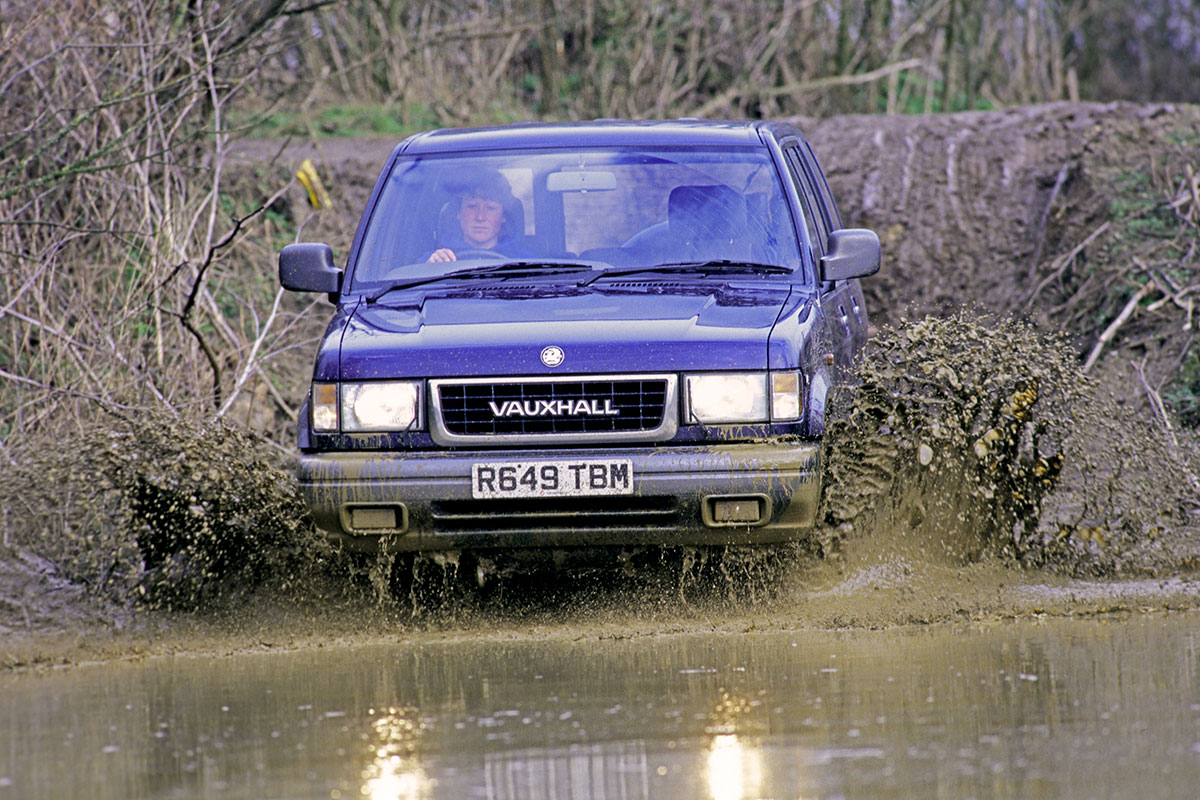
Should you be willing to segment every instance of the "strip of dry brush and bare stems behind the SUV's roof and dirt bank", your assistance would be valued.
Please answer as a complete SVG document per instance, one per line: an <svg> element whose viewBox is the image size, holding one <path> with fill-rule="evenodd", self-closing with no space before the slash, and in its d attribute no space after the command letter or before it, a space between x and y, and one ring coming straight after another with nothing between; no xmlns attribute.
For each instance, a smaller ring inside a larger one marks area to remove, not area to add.
<svg viewBox="0 0 1200 800"><path fill-rule="evenodd" d="M1187 4L389 0L313 4L270 85L404 127L1196 100ZM1157 24L1145 24L1157 19Z"/></svg>

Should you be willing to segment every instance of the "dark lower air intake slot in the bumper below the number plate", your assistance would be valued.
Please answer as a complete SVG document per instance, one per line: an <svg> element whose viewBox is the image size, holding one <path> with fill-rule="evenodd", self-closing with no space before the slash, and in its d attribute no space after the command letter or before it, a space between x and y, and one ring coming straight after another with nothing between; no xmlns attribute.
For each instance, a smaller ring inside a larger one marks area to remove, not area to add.
<svg viewBox="0 0 1200 800"><path fill-rule="evenodd" d="M674 529L682 524L673 497L528 498L442 500L432 504L437 533L532 530Z"/></svg>

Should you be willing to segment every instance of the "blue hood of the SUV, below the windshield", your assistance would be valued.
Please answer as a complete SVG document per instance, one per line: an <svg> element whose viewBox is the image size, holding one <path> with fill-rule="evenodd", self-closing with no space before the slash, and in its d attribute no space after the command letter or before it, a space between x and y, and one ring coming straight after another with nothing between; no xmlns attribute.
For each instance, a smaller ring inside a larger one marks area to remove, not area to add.
<svg viewBox="0 0 1200 800"><path fill-rule="evenodd" d="M714 281L394 293L349 315L338 377L763 369L790 293L786 283ZM557 366L542 362L548 347L563 351Z"/></svg>

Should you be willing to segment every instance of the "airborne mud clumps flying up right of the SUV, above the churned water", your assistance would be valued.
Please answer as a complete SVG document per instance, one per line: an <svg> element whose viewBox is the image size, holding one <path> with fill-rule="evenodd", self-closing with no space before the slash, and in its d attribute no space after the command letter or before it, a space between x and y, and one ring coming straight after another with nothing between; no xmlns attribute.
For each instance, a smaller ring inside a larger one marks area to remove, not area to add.
<svg viewBox="0 0 1200 800"><path fill-rule="evenodd" d="M967 311L906 320L872 342L832 426L823 545L884 536L1075 575L1187 570L1192 463L1061 337Z"/></svg>

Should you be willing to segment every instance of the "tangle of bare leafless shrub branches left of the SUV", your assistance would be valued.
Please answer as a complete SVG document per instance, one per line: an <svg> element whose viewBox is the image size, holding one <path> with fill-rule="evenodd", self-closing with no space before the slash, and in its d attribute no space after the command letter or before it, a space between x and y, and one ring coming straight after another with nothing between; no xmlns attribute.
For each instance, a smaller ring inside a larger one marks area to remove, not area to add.
<svg viewBox="0 0 1200 800"><path fill-rule="evenodd" d="M224 173L277 6L0 7L6 443L96 403L220 416L269 381L282 294L229 254L274 198L230 198Z"/></svg>

